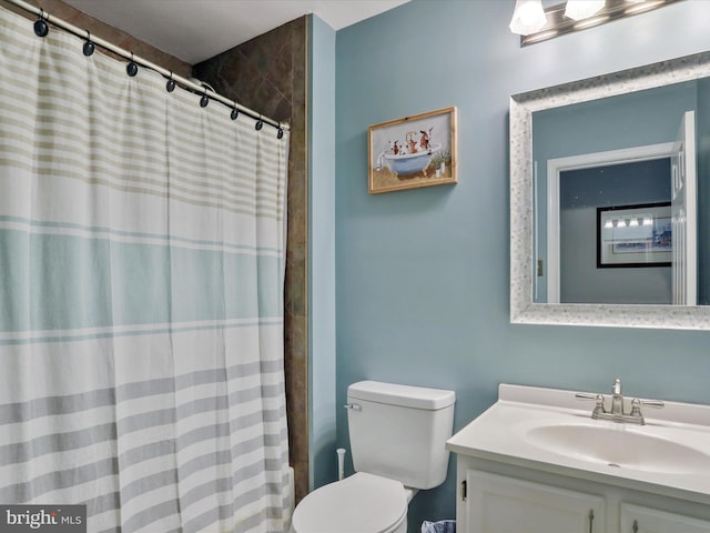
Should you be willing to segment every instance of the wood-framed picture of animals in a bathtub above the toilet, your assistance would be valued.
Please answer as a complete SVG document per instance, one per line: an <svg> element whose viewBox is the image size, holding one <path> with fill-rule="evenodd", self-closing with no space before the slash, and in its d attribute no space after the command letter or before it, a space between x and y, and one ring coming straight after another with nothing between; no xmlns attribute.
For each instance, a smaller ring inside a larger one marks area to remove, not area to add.
<svg viewBox="0 0 710 533"><path fill-rule="evenodd" d="M368 128L368 191L456 183L456 108Z"/></svg>

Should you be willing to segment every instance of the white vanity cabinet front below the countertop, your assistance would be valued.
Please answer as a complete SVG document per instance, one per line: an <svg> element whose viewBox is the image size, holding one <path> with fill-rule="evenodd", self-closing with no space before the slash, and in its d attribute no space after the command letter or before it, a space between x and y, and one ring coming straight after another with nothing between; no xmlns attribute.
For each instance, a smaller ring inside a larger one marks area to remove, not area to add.
<svg viewBox="0 0 710 533"><path fill-rule="evenodd" d="M710 533L708 505L457 455L459 533Z"/></svg>

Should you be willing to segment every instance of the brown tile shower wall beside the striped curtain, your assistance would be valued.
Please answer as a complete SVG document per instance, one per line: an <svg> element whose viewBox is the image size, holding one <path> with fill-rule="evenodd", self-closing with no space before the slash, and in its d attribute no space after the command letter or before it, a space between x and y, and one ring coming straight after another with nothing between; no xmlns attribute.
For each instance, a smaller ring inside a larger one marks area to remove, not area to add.
<svg viewBox="0 0 710 533"><path fill-rule="evenodd" d="M285 286L285 371L296 502L308 492L306 17L196 64L225 97L291 124Z"/></svg>

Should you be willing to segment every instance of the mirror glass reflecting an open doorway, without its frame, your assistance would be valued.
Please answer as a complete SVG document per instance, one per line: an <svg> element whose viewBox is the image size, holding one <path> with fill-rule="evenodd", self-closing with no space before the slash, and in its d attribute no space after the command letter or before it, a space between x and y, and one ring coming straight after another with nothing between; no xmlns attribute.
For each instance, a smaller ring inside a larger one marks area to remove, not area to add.
<svg viewBox="0 0 710 533"><path fill-rule="evenodd" d="M710 80L532 112L532 302L708 305Z"/></svg>

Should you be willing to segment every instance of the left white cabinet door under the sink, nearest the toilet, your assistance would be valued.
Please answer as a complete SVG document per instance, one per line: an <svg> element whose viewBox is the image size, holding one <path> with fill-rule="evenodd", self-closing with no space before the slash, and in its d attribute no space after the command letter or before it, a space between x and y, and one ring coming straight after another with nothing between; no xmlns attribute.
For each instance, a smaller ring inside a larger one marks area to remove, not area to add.
<svg viewBox="0 0 710 533"><path fill-rule="evenodd" d="M463 533L602 533L601 496L468 470ZM677 532L679 533L679 532Z"/></svg>

